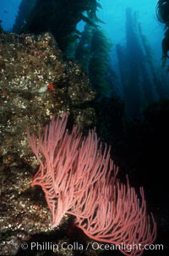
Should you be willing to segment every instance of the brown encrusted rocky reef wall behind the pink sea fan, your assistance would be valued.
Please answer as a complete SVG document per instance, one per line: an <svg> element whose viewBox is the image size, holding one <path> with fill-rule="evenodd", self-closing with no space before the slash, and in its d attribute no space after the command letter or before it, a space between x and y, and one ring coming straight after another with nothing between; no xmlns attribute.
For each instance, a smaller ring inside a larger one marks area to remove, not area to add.
<svg viewBox="0 0 169 256"><path fill-rule="evenodd" d="M72 122L89 128L95 121L94 98L88 77L79 64L63 59L52 35L0 34L1 255L15 255L23 242L52 230L43 192L30 192L37 163L26 127L37 133L38 124L67 112L70 127Z"/></svg>

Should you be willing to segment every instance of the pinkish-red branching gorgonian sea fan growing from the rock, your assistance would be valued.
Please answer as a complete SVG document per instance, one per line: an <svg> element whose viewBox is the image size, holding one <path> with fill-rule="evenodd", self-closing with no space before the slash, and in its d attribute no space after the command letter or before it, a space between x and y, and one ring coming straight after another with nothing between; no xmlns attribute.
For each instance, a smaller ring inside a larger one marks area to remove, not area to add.
<svg viewBox="0 0 169 256"><path fill-rule="evenodd" d="M40 163L31 186L40 185L52 214L52 227L64 214L75 216L74 224L98 241L119 245L125 255L141 255L144 245L156 237L156 223L146 213L144 189L140 198L134 187L117 179L110 147L102 144L95 130L82 136L74 125L66 129L68 115L52 118L38 140L27 132L28 142ZM38 141L38 142L37 142ZM121 244L141 245L131 251Z"/></svg>

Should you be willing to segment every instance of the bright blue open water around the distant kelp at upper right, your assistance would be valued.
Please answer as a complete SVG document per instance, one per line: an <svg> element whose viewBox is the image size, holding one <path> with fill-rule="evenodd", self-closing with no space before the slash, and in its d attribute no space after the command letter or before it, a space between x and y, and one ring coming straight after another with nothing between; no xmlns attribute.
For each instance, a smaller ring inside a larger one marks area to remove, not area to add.
<svg viewBox="0 0 169 256"><path fill-rule="evenodd" d="M113 69L120 76L119 65L117 60L116 46L126 46L127 34L126 34L126 9L131 10L131 14L137 18L137 22L140 25L144 41L150 47L151 61L156 69L158 77L162 78L162 82L167 84L169 79L166 75L166 71L162 68L161 57L162 48L161 41L164 35L165 25L161 24L156 17L155 7L157 0L101 0L102 9L100 9L98 15L105 24L101 25L101 28L106 31L107 37L112 42L112 66ZM134 45L132 46L134 47ZM126 47L126 50L127 47ZM131 56L133 58L134 56ZM146 58L146 56L145 56ZM139 61L139 59L138 59ZM145 60L146 62L146 60ZM122 85L118 84L119 91L122 90Z"/></svg>

